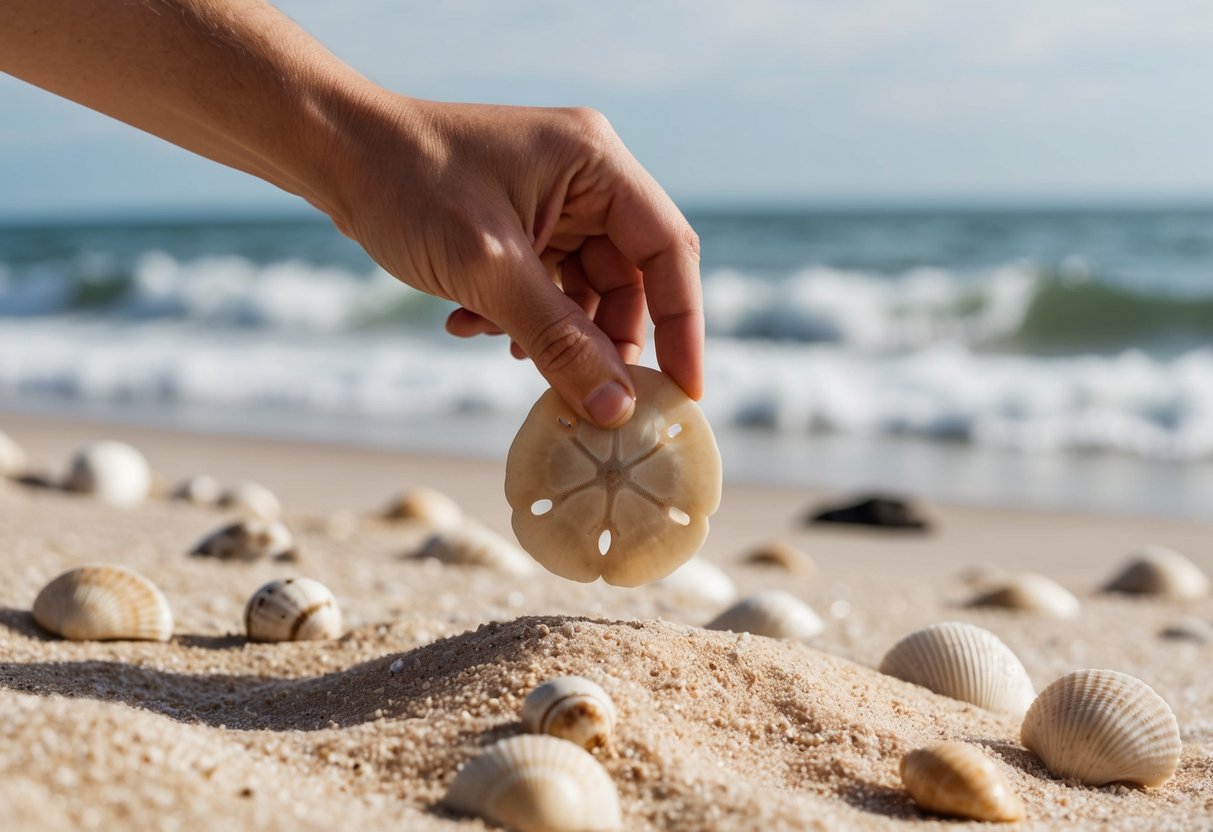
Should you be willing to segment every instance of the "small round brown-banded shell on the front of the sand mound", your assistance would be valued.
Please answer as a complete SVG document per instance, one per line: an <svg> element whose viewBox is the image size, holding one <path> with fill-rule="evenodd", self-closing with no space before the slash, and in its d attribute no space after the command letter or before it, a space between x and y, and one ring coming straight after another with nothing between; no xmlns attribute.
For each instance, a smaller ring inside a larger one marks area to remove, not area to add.
<svg viewBox="0 0 1213 832"><path fill-rule="evenodd" d="M523 702L524 729L576 742L587 751L610 742L615 719L615 702L606 691L580 676L548 679Z"/></svg>

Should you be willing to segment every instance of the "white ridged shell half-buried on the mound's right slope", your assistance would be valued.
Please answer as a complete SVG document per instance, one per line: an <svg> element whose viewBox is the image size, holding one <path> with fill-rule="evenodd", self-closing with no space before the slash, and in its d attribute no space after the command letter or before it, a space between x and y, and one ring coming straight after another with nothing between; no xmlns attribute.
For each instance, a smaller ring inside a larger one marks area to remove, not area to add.
<svg viewBox="0 0 1213 832"><path fill-rule="evenodd" d="M990 631L958 621L902 638L884 654L881 673L997 713L1020 716L1036 697L1010 648Z"/></svg>

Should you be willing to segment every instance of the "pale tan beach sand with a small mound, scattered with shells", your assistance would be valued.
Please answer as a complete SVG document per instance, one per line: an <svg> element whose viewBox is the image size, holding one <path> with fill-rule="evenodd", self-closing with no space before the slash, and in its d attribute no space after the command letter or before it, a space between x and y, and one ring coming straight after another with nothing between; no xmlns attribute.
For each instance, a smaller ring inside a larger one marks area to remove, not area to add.
<svg viewBox="0 0 1213 832"><path fill-rule="evenodd" d="M1157 542L1213 571L1205 525L926 506L936 531L808 528L838 495L727 484L699 555L739 592L779 587L826 621L810 645L701 628L719 604L657 586L575 585L546 572L409 557L426 530L378 519L425 484L508 532L503 462L201 437L0 417L35 462L62 471L73 448L118 438L166 483L210 473L274 490L303 559L222 563L189 548L229 515L153 500L131 511L0 484L0 819L4 828L488 828L439 805L478 748L520 731L522 700L580 673L614 697L599 752L627 830L929 830L900 786L902 753L946 739L984 746L1023 797L1013 828L1213 828L1213 644L1163 638L1213 600L1098 592L1134 547ZM747 565L771 537L811 554L813 575ZM110 562L167 595L176 637L70 643L39 631L39 588ZM1077 620L970 609L974 574L1035 570L1082 600ZM249 644L244 602L264 581L328 585L347 634ZM1137 676L1174 708L1184 752L1156 790L1052 779L1018 741L1018 720L936 696L873 667L901 636L936 621L1000 636L1037 689L1078 667ZM392 668L395 668L393 672Z"/></svg>

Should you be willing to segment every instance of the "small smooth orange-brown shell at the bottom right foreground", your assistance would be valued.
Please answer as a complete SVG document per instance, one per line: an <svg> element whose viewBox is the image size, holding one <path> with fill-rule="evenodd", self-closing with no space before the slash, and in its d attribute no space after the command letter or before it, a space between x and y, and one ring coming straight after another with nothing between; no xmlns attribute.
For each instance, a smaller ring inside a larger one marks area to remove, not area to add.
<svg viewBox="0 0 1213 832"><path fill-rule="evenodd" d="M901 758L901 782L927 811L998 822L1024 817L1024 802L995 762L964 742L911 751Z"/></svg>

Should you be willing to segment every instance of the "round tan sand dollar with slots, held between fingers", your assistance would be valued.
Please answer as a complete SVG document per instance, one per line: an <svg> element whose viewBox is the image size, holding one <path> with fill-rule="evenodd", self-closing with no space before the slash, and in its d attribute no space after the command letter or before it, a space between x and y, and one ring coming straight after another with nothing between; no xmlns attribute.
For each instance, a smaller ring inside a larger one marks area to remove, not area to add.
<svg viewBox="0 0 1213 832"><path fill-rule="evenodd" d="M721 454L699 405L665 374L628 370L637 400L622 427L582 422L548 391L506 461L514 534L573 581L665 577L704 545L721 502Z"/></svg>

